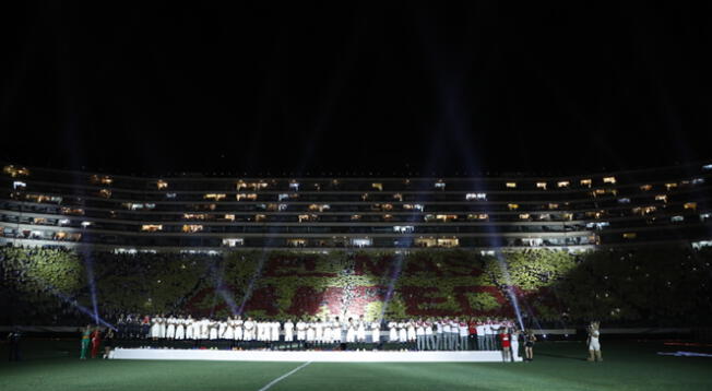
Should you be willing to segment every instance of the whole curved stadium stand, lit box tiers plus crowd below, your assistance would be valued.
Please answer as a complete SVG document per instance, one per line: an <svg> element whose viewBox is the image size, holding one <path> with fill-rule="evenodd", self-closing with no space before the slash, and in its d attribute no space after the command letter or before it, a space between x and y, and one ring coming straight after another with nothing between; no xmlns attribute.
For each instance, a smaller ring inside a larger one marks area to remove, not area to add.
<svg viewBox="0 0 712 391"><path fill-rule="evenodd" d="M149 352L284 355L286 330L269 345L224 332L152 339L127 315L363 316L379 330L476 316L551 341L580 340L597 319L624 329L617 337L709 339L691 325L712 313L711 180L710 164L536 178L139 178L5 165L1 319L59 335L95 321L119 332L120 347ZM352 349L339 342L309 351Z"/></svg>

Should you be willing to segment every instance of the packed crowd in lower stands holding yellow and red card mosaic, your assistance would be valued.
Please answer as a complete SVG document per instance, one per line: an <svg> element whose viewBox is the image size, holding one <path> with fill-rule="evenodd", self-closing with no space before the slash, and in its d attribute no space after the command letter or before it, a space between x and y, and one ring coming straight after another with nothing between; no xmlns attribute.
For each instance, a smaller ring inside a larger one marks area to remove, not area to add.
<svg viewBox="0 0 712 391"><path fill-rule="evenodd" d="M494 257L464 250L264 257L4 247L0 324L80 325L94 307L107 320L128 312L223 319L236 313L235 307L246 317L281 322L346 313L511 318L510 293L523 316L558 327L588 319L645 325L712 321L710 248L508 252L507 275Z"/></svg>

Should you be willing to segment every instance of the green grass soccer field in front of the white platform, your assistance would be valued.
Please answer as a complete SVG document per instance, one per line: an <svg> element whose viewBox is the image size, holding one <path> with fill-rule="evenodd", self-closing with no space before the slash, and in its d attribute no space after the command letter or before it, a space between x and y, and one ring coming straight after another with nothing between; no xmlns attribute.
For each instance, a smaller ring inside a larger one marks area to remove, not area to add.
<svg viewBox="0 0 712 391"><path fill-rule="evenodd" d="M80 362L75 345L25 341L22 363L0 364L0 390L712 390L712 358L660 356L702 352L660 342L609 342L595 364L581 342L541 343L518 364Z"/></svg>

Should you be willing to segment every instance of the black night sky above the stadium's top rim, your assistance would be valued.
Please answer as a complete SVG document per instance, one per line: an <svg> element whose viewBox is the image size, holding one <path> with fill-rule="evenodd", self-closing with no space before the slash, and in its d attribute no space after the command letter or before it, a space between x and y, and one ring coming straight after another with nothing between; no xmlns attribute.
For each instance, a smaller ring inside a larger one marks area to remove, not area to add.
<svg viewBox="0 0 712 391"><path fill-rule="evenodd" d="M20 3L0 5L7 162L462 175L712 157L704 4Z"/></svg>

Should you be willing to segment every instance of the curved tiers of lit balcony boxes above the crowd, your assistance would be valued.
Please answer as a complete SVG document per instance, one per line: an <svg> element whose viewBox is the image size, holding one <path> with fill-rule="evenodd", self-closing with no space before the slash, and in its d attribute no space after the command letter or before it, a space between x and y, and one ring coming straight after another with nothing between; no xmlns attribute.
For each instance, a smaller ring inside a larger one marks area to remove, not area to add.
<svg viewBox="0 0 712 391"><path fill-rule="evenodd" d="M3 165L0 245L589 249L712 238L712 164L566 177L161 178Z"/></svg>

